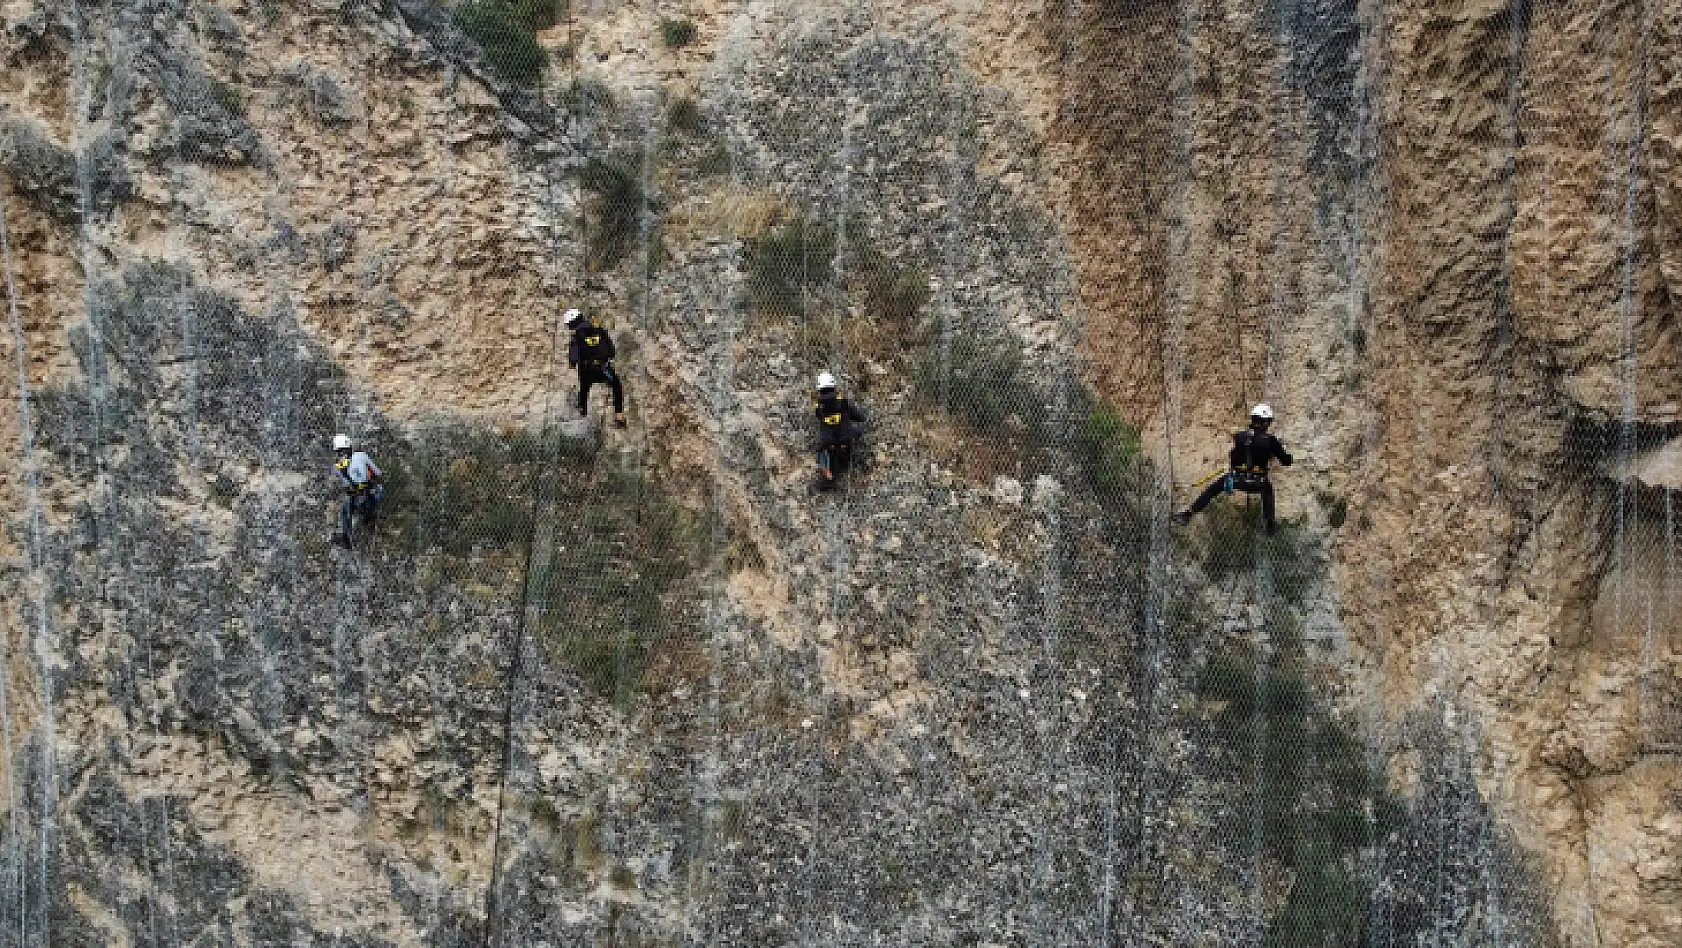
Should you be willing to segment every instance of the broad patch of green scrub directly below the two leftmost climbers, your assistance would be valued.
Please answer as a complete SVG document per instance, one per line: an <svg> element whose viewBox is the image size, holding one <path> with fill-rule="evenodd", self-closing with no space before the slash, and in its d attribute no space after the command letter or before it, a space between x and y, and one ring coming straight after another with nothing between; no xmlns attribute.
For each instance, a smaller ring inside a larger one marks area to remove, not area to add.
<svg viewBox="0 0 1682 948"><path fill-rule="evenodd" d="M673 630L695 607L681 588L703 570L706 531L659 482L600 471L570 439L526 430L447 425L377 450L390 459L380 516L397 548L429 560L439 582L518 598L533 644L594 694L629 701L671 657L663 649L681 647ZM552 479L590 503L557 506ZM530 561L538 529L548 563Z"/></svg>

